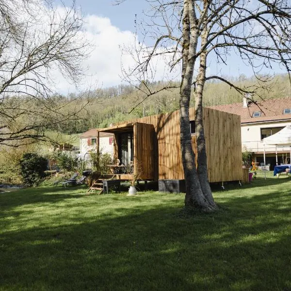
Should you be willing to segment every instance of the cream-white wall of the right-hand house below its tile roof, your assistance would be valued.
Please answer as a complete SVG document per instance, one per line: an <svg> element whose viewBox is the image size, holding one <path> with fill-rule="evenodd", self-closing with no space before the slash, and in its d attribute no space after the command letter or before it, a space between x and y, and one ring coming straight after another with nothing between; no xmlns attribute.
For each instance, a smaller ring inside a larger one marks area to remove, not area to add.
<svg viewBox="0 0 291 291"><path fill-rule="evenodd" d="M246 146L250 151L262 152L264 150L261 141L261 129L285 127L291 122L273 122L261 124L242 124L242 147ZM266 152L275 151L275 145L266 145ZM277 146L277 150L290 150L289 146Z"/></svg>

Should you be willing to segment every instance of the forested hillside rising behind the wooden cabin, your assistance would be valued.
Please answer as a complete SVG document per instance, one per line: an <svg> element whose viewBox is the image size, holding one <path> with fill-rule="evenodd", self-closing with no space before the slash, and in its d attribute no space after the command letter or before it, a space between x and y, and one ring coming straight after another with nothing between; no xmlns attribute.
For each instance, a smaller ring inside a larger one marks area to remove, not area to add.
<svg viewBox="0 0 291 291"><path fill-rule="evenodd" d="M241 76L233 79L233 83L242 87L248 87L254 84L256 80L247 79ZM178 83L177 83L178 85ZM268 83L259 85L269 87L268 90L260 90L260 95L264 99L280 98L291 96L291 85L288 75L277 75ZM162 82L152 84L154 88L161 88ZM146 115L157 113L171 112L178 109L179 88L162 91L154 96L147 97L146 100L135 106L145 97L139 90L134 87L119 85L111 88L99 90L99 103L92 106L84 116L83 121L76 124L68 124L63 128L64 133L83 132L91 128L107 127L111 123L130 119L132 117L142 117L144 110ZM257 97L259 99L259 97ZM192 100L192 106L194 101ZM235 89L230 88L221 81L209 81L204 90L204 105L219 105L242 102L242 95ZM131 113L130 113L131 112Z"/></svg>

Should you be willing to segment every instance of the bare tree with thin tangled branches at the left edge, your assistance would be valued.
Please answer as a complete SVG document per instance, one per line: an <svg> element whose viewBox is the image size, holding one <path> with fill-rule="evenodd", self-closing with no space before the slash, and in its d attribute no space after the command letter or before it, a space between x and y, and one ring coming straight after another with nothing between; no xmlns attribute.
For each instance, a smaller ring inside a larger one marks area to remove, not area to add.
<svg viewBox="0 0 291 291"><path fill-rule="evenodd" d="M52 89L56 76L77 85L84 75L89 44L82 24L74 3L0 0L0 123L9 128L0 144L45 139L46 129L81 119L95 100L94 91L66 99Z"/></svg>

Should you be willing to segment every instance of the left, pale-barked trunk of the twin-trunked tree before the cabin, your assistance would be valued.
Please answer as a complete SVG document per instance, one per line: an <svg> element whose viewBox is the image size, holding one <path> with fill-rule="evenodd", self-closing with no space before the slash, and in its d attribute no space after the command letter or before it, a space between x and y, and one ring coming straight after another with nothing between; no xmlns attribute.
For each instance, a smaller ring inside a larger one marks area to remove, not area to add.
<svg viewBox="0 0 291 291"><path fill-rule="evenodd" d="M180 87L180 143L186 181L185 206L211 210L212 207L204 197L197 175L189 124L189 104L195 64L194 55L198 39L193 2L184 0L182 82Z"/></svg>

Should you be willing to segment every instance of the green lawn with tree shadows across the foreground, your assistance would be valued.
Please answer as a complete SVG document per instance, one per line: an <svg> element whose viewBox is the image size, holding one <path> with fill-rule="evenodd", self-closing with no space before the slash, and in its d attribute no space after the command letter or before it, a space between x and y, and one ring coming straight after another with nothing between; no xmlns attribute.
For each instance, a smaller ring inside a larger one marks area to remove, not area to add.
<svg viewBox="0 0 291 291"><path fill-rule="evenodd" d="M0 194L0 290L290 291L290 188L226 185L221 210L194 217L183 194Z"/></svg>

